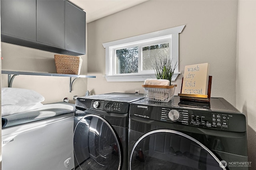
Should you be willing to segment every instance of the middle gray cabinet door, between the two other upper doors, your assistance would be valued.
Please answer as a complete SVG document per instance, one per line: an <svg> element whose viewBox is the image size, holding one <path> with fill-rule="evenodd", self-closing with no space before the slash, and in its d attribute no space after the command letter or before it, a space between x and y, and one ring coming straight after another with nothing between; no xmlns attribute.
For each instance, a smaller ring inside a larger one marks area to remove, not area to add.
<svg viewBox="0 0 256 170"><path fill-rule="evenodd" d="M36 1L36 41L64 49L64 0Z"/></svg>

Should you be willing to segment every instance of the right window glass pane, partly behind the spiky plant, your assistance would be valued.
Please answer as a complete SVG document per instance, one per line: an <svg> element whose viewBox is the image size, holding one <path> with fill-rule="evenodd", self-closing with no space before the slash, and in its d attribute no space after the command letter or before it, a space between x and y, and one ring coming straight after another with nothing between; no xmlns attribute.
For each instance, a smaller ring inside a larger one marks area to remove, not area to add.
<svg viewBox="0 0 256 170"><path fill-rule="evenodd" d="M151 62L165 56L169 56L169 43L142 47L142 70L153 70Z"/></svg>

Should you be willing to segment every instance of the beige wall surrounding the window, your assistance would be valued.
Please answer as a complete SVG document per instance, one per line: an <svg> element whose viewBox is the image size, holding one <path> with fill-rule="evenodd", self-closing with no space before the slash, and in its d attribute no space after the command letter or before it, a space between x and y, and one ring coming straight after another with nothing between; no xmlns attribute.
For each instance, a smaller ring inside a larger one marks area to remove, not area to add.
<svg viewBox="0 0 256 170"><path fill-rule="evenodd" d="M235 0L150 0L88 23L88 90L94 94L132 92L143 82L107 82L102 43L186 25L180 34L180 72L190 64L210 63L212 96L235 104L236 28ZM178 76L176 94L183 75Z"/></svg>

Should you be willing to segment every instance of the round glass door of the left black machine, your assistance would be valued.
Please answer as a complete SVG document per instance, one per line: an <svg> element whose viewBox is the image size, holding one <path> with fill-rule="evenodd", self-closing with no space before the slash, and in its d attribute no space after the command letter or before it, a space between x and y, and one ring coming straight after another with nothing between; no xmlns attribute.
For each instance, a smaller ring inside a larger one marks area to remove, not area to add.
<svg viewBox="0 0 256 170"><path fill-rule="evenodd" d="M78 170L120 170L120 139L104 118L85 115L74 129L74 156Z"/></svg>

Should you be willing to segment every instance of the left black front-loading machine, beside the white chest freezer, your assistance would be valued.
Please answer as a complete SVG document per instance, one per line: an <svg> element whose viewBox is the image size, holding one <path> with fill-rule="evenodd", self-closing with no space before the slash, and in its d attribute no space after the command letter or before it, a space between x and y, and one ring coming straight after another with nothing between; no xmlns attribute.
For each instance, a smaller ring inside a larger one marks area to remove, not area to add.
<svg viewBox="0 0 256 170"><path fill-rule="evenodd" d="M76 170L127 170L128 113L142 94L78 97L74 115Z"/></svg>

